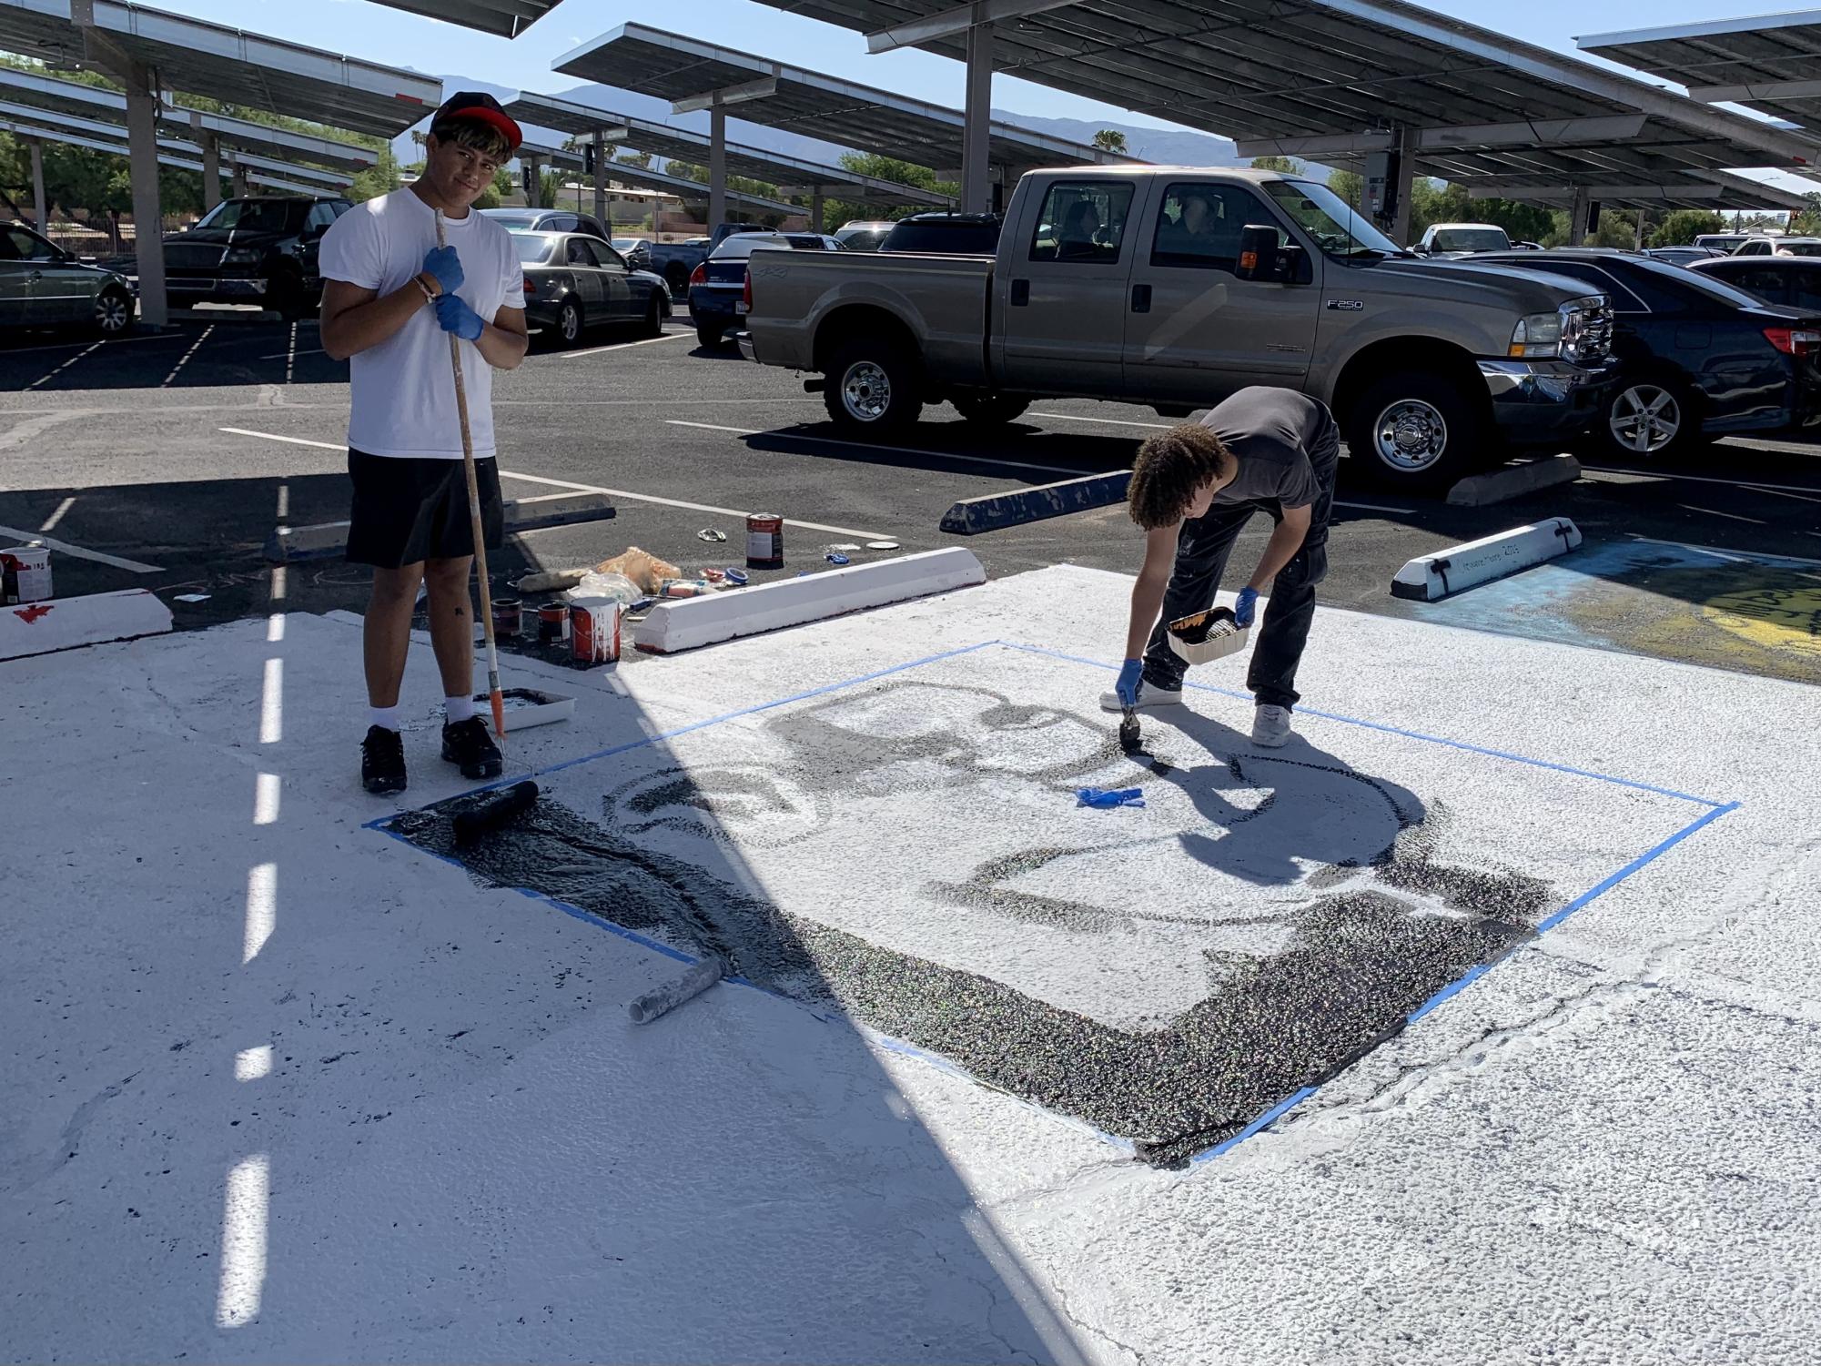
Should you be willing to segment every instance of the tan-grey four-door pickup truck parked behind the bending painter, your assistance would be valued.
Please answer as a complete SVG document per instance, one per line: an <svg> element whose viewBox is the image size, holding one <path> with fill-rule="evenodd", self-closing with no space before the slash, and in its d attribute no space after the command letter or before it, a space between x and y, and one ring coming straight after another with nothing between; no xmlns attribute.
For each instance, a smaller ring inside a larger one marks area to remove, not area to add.
<svg viewBox="0 0 1821 1366"><path fill-rule="evenodd" d="M1036 397L1176 417L1282 384L1335 410L1355 474L1433 488L1559 448L1613 375L1612 310L1584 284L1419 259L1273 171L1031 171L996 257L754 253L748 279L741 352L821 375L807 388L863 432L940 401L980 423Z"/></svg>

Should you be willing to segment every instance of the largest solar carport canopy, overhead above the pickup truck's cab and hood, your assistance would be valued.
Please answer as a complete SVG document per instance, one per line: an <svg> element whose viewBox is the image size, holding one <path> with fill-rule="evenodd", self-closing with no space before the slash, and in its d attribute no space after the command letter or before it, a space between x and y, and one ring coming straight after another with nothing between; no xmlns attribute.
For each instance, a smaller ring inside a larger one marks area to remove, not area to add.
<svg viewBox="0 0 1821 1366"><path fill-rule="evenodd" d="M1533 177L1584 206L1601 186L1697 189L1715 169L1806 171L1821 157L1803 133L1402 0L765 4L869 33L874 51L971 58L971 82L987 67L1229 135L1242 153L1331 162L1395 148L1402 206L1417 173Z"/></svg>

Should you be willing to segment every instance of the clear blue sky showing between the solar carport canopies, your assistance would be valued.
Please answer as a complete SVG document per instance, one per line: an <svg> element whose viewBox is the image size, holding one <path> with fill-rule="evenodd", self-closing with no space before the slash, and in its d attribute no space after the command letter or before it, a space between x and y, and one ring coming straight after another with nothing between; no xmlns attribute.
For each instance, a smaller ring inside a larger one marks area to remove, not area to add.
<svg viewBox="0 0 1821 1366"><path fill-rule="evenodd" d="M406 15L370 0L153 0L153 4L348 56L544 91L577 84L552 73L552 58L606 29L637 20L728 44L758 56L898 89L903 95L956 107L961 104L960 62L914 51L869 56L865 40L858 33L785 15L754 0L690 0L672 9L654 4L628 5L623 0L563 0L512 42ZM1453 0L1450 13L1542 47L1573 51L1577 35L1754 15L1763 13L1763 0L1653 0L1648 5L1633 0L1610 7L1590 5L1584 0L1579 4L1535 0L1519 5L1510 0ZM994 82L992 104L998 109L1051 118L1109 118L1133 126L1169 127L1156 118L1005 76Z"/></svg>

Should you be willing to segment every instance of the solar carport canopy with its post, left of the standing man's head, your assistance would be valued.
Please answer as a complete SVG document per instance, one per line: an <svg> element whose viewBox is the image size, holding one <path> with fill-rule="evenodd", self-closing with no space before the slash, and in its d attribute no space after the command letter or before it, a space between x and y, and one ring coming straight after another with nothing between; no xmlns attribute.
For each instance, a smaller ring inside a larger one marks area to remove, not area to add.
<svg viewBox="0 0 1821 1366"><path fill-rule="evenodd" d="M397 137L443 98L439 80L206 24L129 0L0 0L0 49L60 67L91 67L126 87L133 220L157 224L158 93L204 95L331 127ZM140 315L166 322L158 233L140 248Z"/></svg>

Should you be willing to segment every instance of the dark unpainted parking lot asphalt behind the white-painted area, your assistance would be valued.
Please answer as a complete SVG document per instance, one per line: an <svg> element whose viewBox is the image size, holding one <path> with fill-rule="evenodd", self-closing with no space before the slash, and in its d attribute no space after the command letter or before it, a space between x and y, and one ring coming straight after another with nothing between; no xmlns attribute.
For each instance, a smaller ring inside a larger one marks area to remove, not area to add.
<svg viewBox="0 0 1821 1366"><path fill-rule="evenodd" d="M941 404L894 444L867 446L827 423L799 377L747 364L732 350L707 352L676 324L652 341L597 333L577 350L534 350L521 370L495 377L493 404L508 497L606 488L617 512L512 537L492 565L495 581L592 565L628 545L687 570L739 565L747 510L809 523L787 526L785 574L827 568L827 545L869 539L905 552L965 543L994 577L1058 563L1131 572L1140 537L1122 506L974 537L943 534L938 523L963 497L1125 468L1138 441L1167 426L1147 408L1042 401L994 430ZM273 528L348 514L346 417L348 366L322 353L310 322L222 313L107 344L16 337L0 348L0 535L49 539L60 552L58 596L122 586L166 601L206 594L171 603L180 628L266 612L260 552ZM1362 488L1342 461L1322 599L1422 616L1426 605L1388 592L1406 559L1568 515L1593 545L1679 546L1664 554L1681 559L1586 559L1584 583L1572 586L1577 601L1555 603L1566 634L1821 681L1821 652L1797 639L1805 621L1808 637L1821 639L1821 446L1726 441L1648 466L1584 459L1581 483L1490 508ZM703 528L725 532L727 545L697 539ZM1256 554L1266 532L1258 519L1236 563ZM1683 561L1715 554L1726 556L1715 559L1726 576L1714 585L1728 601L1772 594L1768 643L1763 632L1735 630L1715 636L1723 647L1690 648L1681 619L1664 614L1663 601L1673 599L1712 616L1706 590L1688 590ZM1681 577L1664 594L1670 572ZM1524 579L1511 583L1515 590L1479 599L1484 614L1470 594L1446 619L1550 636L1555 627L1537 619ZM1592 605L1582 601L1590 594ZM359 566L313 561L288 574L290 610L361 610L364 599ZM1109 623L1109 650L1118 634Z"/></svg>

